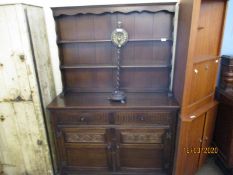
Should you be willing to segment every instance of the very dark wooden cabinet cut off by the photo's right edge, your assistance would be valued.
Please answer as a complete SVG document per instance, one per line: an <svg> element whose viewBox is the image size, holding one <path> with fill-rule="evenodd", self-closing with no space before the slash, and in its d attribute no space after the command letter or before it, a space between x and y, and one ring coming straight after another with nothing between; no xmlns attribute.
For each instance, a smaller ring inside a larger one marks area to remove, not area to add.
<svg viewBox="0 0 233 175"><path fill-rule="evenodd" d="M218 147L217 163L225 174L233 174L233 57L222 56L219 86L216 96L219 110L214 133Z"/></svg>

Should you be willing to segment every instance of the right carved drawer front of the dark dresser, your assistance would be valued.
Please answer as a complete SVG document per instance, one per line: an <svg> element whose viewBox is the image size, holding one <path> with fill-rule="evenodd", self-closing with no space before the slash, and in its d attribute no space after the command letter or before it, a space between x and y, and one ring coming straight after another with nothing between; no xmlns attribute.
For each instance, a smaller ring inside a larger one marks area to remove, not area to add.
<svg viewBox="0 0 233 175"><path fill-rule="evenodd" d="M117 112L115 124L171 124L172 113L169 111L158 112Z"/></svg>

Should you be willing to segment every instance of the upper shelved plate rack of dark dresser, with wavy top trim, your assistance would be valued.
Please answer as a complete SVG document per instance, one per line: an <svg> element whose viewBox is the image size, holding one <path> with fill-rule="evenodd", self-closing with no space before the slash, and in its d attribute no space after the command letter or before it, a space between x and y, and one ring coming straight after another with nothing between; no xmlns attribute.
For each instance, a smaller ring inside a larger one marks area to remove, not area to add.
<svg viewBox="0 0 233 175"><path fill-rule="evenodd" d="M160 8L159 8L160 7ZM121 49L121 89L167 92L170 84L174 4L53 9L65 90L111 92L116 85L116 47L111 33L122 21L129 34ZM61 12L62 11L62 12ZM72 12L72 13L71 13ZM165 39L165 41L164 41Z"/></svg>

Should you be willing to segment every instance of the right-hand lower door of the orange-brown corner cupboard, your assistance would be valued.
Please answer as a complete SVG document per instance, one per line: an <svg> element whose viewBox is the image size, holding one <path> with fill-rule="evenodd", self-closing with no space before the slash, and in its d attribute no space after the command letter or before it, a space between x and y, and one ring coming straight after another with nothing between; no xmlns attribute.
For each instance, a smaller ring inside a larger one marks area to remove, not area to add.
<svg viewBox="0 0 233 175"><path fill-rule="evenodd" d="M203 142L202 142L202 150L199 160L199 167L201 167L208 155L208 151L211 151L210 146L213 138L213 132L214 132L214 126L215 126L215 120L217 115L217 105L211 108L206 113L206 120L205 120L205 127L203 132Z"/></svg>

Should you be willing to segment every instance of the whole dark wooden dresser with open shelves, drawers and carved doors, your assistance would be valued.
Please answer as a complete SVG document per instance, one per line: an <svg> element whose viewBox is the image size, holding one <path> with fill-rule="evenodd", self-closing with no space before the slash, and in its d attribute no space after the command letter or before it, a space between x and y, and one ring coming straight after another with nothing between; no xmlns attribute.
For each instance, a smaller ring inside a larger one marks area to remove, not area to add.
<svg viewBox="0 0 233 175"><path fill-rule="evenodd" d="M64 91L48 108L61 174L171 174L175 5L53 8ZM111 42L119 21L128 32L120 68ZM124 104L109 101L118 83Z"/></svg>

